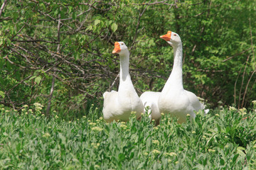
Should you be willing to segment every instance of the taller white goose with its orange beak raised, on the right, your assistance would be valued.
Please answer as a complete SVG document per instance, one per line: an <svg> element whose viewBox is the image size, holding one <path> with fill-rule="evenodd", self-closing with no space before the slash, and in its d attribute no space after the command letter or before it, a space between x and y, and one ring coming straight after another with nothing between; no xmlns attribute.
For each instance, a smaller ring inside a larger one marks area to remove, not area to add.
<svg viewBox="0 0 256 170"><path fill-rule="evenodd" d="M194 111L199 111L204 106L195 94L183 89L181 38L171 31L161 35L160 38L174 47L174 66L159 96L159 111L164 114L170 113L178 119L178 123L184 123L187 114L190 114L191 118L196 118Z"/></svg>

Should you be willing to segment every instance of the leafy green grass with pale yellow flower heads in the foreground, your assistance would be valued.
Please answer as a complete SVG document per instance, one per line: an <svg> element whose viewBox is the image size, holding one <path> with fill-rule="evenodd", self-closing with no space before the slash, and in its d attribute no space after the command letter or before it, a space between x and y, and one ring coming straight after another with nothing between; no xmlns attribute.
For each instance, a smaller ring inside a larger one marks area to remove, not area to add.
<svg viewBox="0 0 256 170"><path fill-rule="evenodd" d="M0 169L256 169L254 111L216 109L182 125L164 115L154 127L146 115L105 123L95 106L72 121L1 110Z"/></svg>

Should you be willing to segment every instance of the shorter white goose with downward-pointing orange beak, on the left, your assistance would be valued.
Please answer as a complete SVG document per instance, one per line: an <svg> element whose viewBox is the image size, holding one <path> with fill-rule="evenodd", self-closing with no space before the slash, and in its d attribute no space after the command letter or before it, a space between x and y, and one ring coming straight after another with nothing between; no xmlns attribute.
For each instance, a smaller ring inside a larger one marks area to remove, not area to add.
<svg viewBox="0 0 256 170"><path fill-rule="evenodd" d="M120 76L118 91L106 91L103 94L103 117L107 122L113 120L129 120L132 112L136 112L139 119L143 112L142 101L132 84L129 75L129 51L124 42L114 42L113 54L120 57Z"/></svg>

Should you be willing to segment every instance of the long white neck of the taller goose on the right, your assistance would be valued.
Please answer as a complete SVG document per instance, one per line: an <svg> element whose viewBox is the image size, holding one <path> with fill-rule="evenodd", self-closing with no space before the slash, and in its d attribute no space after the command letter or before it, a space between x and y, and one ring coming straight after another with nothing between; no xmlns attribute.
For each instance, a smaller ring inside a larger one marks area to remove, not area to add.
<svg viewBox="0 0 256 170"><path fill-rule="evenodd" d="M174 67L171 71L169 79L166 81L163 91L172 87L183 89L182 80L182 44L173 45L174 47ZM166 91L167 92L167 91Z"/></svg>

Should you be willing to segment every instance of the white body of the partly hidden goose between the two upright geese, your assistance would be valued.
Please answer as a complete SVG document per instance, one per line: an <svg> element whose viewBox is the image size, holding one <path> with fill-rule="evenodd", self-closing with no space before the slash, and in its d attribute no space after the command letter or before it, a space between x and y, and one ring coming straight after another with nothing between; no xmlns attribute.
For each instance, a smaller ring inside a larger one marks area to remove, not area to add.
<svg viewBox="0 0 256 170"><path fill-rule="evenodd" d="M161 114L159 112L158 100L161 92L145 91L139 98L141 98L144 113L146 108L149 107L148 114L150 120L156 120L156 125L159 125Z"/></svg>

